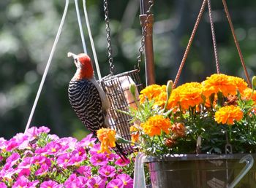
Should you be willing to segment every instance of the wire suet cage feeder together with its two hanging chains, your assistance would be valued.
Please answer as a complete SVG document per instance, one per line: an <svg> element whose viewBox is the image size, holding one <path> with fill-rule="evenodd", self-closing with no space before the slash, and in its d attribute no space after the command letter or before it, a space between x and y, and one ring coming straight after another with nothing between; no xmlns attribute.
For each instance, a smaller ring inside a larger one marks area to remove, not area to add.
<svg viewBox="0 0 256 188"><path fill-rule="evenodd" d="M151 2L152 1L145 1ZM151 7L150 7L151 8ZM148 8L149 9L149 8ZM108 17L108 1L104 0L104 12L105 12L105 23L106 23L106 33L107 33L107 42L108 42L108 61L110 63L110 75L103 77L99 80L102 89L110 101L109 122L110 128L116 130L118 136L124 138L128 141L131 140L131 135L129 127L131 126L131 117L128 114L124 114L120 111L129 111L129 108L136 108L135 100L138 100L140 90L143 89L143 85L140 82L140 62L142 61L142 53L145 47L146 40L146 30L149 28L147 24L143 26L143 37L141 39L141 47L139 49L140 55L138 57L138 65L135 66L134 70L123 72L121 74L113 74L113 58L112 58L112 46L111 46L111 36L110 36L110 24ZM151 17L150 11L148 15L144 17L144 21L148 22L149 17ZM153 55L153 52L151 52ZM152 58L151 58L152 59ZM151 75L152 76L152 75ZM136 87L135 98L132 93L129 91L129 86L133 84ZM125 153L130 154L134 152L131 144L122 144L122 149Z"/></svg>

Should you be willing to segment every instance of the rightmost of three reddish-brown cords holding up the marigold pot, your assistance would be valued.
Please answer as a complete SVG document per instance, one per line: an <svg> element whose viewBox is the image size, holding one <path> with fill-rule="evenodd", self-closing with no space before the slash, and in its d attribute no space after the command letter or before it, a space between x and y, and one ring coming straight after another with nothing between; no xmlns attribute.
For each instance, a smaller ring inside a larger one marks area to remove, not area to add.
<svg viewBox="0 0 256 188"><path fill-rule="evenodd" d="M236 49L238 50L238 55L239 55L239 58L241 60L241 63L242 63L242 66L244 68L244 74L246 76L246 79L247 79L247 83L249 85L249 87L252 87L252 83L249 81L249 74L248 74L248 71L246 69L246 66L245 66L245 63L244 63L244 58L243 58L243 55L242 55L242 52L241 52L241 48L239 46L239 43L238 43L238 40L236 38L236 33L235 33L235 29L233 27L233 23L232 23L232 20L230 18L230 12L228 11L227 9L227 3L225 0L222 0L222 3L223 3L223 6L224 6L224 9L225 9L225 13L227 15L227 20L228 20L228 23L230 24L230 29L231 29L231 32L232 32L232 35L233 35L233 39L234 39L234 42L236 44Z"/></svg>

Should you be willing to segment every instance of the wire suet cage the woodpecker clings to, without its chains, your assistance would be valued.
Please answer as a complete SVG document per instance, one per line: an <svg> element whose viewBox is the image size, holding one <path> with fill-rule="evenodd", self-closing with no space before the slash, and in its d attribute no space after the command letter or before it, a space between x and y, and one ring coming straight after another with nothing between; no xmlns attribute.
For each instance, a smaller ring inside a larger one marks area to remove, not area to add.
<svg viewBox="0 0 256 188"><path fill-rule="evenodd" d="M136 95L138 96L143 85L140 82L139 71L137 69L127 71L117 75L110 75L99 80L99 84L106 93L110 101L109 122L110 128L116 130L118 136L130 141L131 136L129 132L131 117L121 113L121 111L128 111L129 107L136 108L136 104L132 93L129 91L129 85L136 85ZM130 154L134 152L130 144L122 144L124 152Z"/></svg>

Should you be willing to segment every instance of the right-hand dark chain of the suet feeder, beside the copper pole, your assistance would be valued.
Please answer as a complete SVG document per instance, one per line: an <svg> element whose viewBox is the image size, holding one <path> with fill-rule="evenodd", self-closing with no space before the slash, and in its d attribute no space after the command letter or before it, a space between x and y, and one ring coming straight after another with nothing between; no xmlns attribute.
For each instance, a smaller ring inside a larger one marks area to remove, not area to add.
<svg viewBox="0 0 256 188"><path fill-rule="evenodd" d="M142 38L140 40L140 48L139 48L139 56L137 58L137 65L135 66L135 69L138 69L138 71L140 71L140 63L142 62L142 56L143 56L143 51L145 49L145 37L147 35L147 28L149 26L149 17L151 15L151 9L152 7L154 6L154 1L148 1L148 10L146 12L146 20L144 22L144 26L143 26L143 29L142 29Z"/></svg>

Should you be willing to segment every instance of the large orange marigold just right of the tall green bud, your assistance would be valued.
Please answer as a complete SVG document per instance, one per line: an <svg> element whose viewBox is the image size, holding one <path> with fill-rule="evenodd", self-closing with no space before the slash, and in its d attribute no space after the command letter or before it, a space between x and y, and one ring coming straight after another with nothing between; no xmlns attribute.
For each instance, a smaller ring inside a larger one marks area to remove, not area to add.
<svg viewBox="0 0 256 188"><path fill-rule="evenodd" d="M190 82L173 90L168 101L167 109L181 106L181 109L189 109L189 106L197 106L203 102L201 97L203 87L198 82Z"/></svg>

